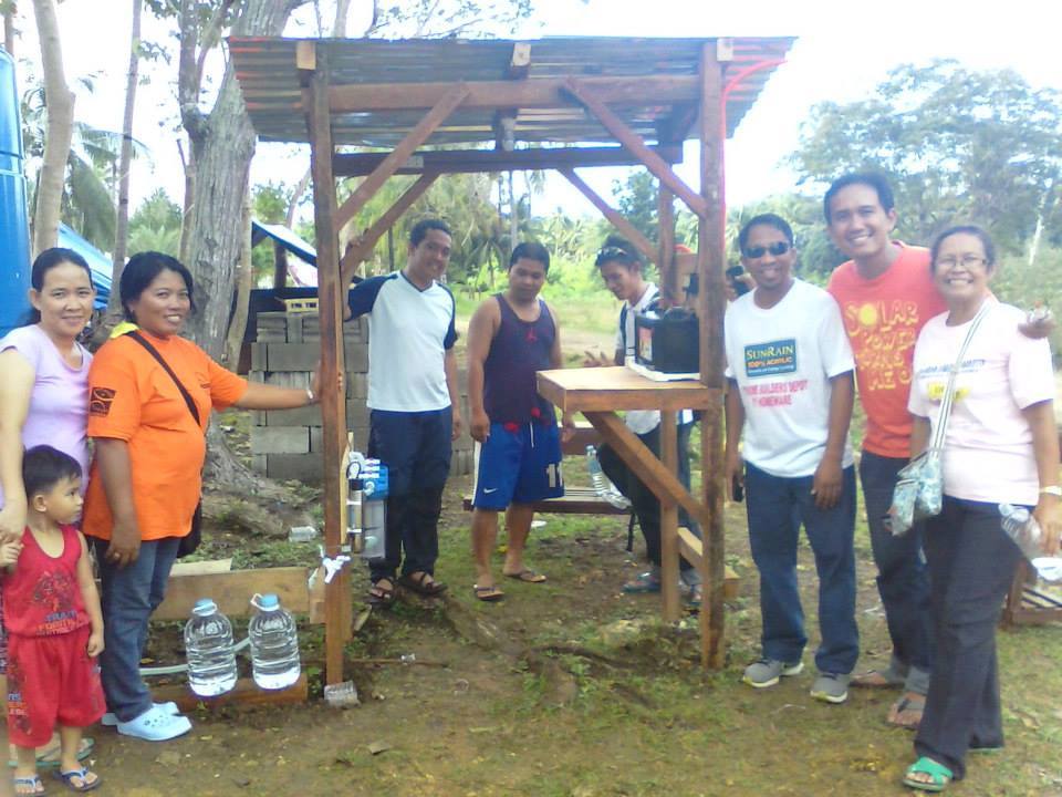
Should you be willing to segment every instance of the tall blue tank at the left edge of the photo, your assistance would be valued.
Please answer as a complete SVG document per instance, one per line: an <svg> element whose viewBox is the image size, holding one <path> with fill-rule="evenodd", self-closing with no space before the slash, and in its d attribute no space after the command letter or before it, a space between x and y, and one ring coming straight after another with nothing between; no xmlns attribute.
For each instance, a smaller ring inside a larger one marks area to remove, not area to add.
<svg viewBox="0 0 1062 797"><path fill-rule="evenodd" d="M29 310L30 225L14 61L0 49L0 335Z"/></svg>

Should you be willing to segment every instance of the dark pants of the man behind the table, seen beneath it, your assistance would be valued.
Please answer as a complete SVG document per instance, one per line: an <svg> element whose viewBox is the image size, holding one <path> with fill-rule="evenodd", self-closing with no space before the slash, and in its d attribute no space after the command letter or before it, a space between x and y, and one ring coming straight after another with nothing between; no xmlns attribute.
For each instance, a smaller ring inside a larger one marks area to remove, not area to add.
<svg viewBox="0 0 1062 797"><path fill-rule="evenodd" d="M657 458L660 456L660 426L638 435L646 447L652 451ZM689 435L694 424L684 424L678 427L678 478L689 489ZM625 495L634 508L634 514L638 518L638 526L642 528L642 536L645 537L645 552L649 561L656 567L660 566L660 501L645 483L633 473L627 464L620 458L607 445L603 445L597 452L597 460L601 463L601 469L605 476L612 479L623 495ZM700 526L689 517L684 508L678 508L678 524L687 527L697 537L700 537ZM694 566L683 558L679 558L679 567L683 570L689 570Z"/></svg>

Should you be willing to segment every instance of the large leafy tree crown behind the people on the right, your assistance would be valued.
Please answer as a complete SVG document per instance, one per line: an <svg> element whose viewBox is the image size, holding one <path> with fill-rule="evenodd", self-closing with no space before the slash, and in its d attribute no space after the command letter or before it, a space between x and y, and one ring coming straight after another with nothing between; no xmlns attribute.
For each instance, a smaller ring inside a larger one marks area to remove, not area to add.
<svg viewBox="0 0 1062 797"><path fill-rule="evenodd" d="M1062 99L1010 70L898 66L867 100L816 105L792 163L801 183L884 172L912 241L972 221L1019 251L1041 217L1055 241L1062 235Z"/></svg>

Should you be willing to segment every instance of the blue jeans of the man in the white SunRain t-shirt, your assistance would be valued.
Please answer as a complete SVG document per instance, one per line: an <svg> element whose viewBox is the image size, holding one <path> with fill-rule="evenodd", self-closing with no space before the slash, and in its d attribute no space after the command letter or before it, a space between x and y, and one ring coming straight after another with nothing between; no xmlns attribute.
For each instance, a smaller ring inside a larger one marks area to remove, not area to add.
<svg viewBox="0 0 1062 797"><path fill-rule="evenodd" d="M796 586L796 546L803 522L819 572L819 629L815 666L850 673L860 655L855 624L855 468L843 474L841 499L815 507L811 476L772 476L746 466L745 496L752 559L760 571L763 656L799 661L808 636Z"/></svg>

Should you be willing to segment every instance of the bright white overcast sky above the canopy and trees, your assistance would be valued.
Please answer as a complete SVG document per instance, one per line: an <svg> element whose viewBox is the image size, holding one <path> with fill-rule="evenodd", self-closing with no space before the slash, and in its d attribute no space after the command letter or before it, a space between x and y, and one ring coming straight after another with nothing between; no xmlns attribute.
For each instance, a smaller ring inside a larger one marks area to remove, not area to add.
<svg viewBox="0 0 1062 797"><path fill-rule="evenodd" d="M329 0L322 0L325 17ZM79 94L76 116L88 124L119 130L127 69L127 0L65 0L58 6L67 82ZM819 102L851 102L873 92L888 71L902 63L926 64L952 58L971 69L1013 69L1034 87L1062 90L1062 2L1010 0L975 11L954 0L895 0L853 3L816 0L533 0L534 18L517 38L542 35L773 37L795 35L788 62L771 76L757 104L726 144L727 203L739 206L795 188L785 166L799 143L800 124ZM20 3L22 39L17 56L39 61L30 3ZM348 34L367 23L368 3L354 0ZM100 24L106 10L105 25ZM166 29L144 14L144 38L164 40ZM288 35L313 35L309 9L289 23ZM91 31L91 35L85 35ZM217 66L220 61L215 62ZM27 70L20 69L20 80ZM92 76L94 91L77 84ZM184 178L175 145L176 61L145 70L138 90L134 135L150 157L134 165L134 207L157 187L179 201ZM696 186L697 162L689 147L679 174ZM266 144L251 167L253 182L294 183L309 165L304 149ZM611 193L618 169L584 169L598 192ZM545 194L532 200L535 213L564 207L573 214L596 213L556 176Z"/></svg>

